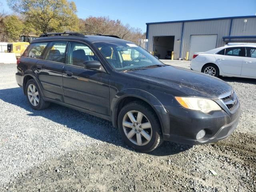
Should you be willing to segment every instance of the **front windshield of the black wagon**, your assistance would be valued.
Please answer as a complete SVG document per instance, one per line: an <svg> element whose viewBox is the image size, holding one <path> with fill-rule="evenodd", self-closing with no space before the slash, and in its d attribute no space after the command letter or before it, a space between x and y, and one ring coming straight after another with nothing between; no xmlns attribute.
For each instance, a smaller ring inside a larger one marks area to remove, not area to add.
<svg viewBox="0 0 256 192"><path fill-rule="evenodd" d="M145 67L161 65L156 57L149 52L129 42L95 42L108 63L118 71L142 69Z"/></svg>

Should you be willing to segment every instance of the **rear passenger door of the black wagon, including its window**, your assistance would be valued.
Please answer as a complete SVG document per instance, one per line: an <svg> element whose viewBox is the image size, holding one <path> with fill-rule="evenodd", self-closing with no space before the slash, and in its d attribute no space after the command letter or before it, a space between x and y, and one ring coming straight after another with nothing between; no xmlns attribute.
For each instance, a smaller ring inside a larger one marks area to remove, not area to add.
<svg viewBox="0 0 256 192"><path fill-rule="evenodd" d="M44 89L44 96L62 102L64 94L62 70L67 43L67 41L48 42L43 58L35 65L35 73Z"/></svg>

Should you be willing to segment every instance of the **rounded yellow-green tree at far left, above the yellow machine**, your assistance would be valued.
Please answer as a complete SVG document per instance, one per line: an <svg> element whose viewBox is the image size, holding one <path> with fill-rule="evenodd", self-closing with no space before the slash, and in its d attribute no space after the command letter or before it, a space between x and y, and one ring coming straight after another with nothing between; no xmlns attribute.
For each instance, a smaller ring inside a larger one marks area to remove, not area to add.
<svg viewBox="0 0 256 192"><path fill-rule="evenodd" d="M9 15L4 18L4 30L13 41L20 40L20 34L23 30L23 23L16 15Z"/></svg>

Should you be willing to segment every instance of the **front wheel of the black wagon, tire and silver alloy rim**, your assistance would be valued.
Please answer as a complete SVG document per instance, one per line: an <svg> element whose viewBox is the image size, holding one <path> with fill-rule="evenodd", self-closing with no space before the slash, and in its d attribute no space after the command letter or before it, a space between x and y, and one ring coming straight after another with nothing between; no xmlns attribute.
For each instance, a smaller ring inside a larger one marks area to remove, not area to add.
<svg viewBox="0 0 256 192"><path fill-rule="evenodd" d="M134 122L132 122L129 116L130 114L134 117ZM150 128L147 128L149 126ZM143 102L131 102L120 110L118 115L118 129L124 142L140 152L150 152L163 142L158 117Z"/></svg>

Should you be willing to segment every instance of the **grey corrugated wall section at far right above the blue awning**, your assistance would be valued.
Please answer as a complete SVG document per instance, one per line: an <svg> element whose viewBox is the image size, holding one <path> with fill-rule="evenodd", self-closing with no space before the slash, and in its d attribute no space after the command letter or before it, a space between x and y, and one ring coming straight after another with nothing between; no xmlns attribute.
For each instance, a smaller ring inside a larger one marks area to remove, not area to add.
<svg viewBox="0 0 256 192"><path fill-rule="evenodd" d="M247 20L244 28L244 20ZM230 36L255 36L256 18L233 19Z"/></svg>

